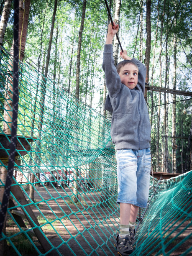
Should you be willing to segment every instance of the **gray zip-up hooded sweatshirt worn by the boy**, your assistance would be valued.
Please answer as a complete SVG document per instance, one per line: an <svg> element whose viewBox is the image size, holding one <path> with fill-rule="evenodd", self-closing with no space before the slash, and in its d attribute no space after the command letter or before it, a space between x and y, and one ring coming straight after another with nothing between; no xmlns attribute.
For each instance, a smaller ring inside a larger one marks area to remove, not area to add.
<svg viewBox="0 0 192 256"><path fill-rule="evenodd" d="M131 90L120 81L114 66L112 44L105 44L102 68L105 72L108 96L105 110L112 112L111 138L116 149L150 147L151 126L144 98L146 67L137 59L138 84Z"/></svg>

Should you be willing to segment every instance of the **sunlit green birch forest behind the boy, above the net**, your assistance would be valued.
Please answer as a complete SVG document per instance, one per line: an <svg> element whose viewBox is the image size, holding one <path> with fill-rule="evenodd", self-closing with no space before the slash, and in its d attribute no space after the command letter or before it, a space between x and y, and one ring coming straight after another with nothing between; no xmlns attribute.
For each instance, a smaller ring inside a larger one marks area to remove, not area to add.
<svg viewBox="0 0 192 256"><path fill-rule="evenodd" d="M2 18L7 2L10 11L1 44L11 51L12 1L0 1L0 15ZM24 0L23 5L26 3L30 9L23 62L56 81L60 90L74 94L110 119L110 113L103 109L107 90L102 51L110 21L105 2ZM108 4L113 20L120 24L123 49L147 67L146 83L191 92L192 3L109 0ZM115 39L115 64L120 61L119 49ZM164 90L148 90L146 97L151 118L153 170L189 171L192 169L192 97L164 93Z"/></svg>

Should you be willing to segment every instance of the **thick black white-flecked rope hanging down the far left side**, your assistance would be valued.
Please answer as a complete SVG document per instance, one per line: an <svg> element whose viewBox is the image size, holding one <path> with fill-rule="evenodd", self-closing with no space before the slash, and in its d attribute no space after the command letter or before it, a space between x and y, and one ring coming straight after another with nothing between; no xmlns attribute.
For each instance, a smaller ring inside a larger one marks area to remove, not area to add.
<svg viewBox="0 0 192 256"><path fill-rule="evenodd" d="M3 194L3 200L0 210L0 236L2 235L3 225L5 221L5 215L7 212L10 188L14 170L15 160L15 148L17 140L17 117L18 117L18 61L19 61L19 49L18 49L18 30L19 30L19 1L14 0L14 59L13 59L13 119L10 139L10 154L8 161L8 173L5 182L5 190Z"/></svg>

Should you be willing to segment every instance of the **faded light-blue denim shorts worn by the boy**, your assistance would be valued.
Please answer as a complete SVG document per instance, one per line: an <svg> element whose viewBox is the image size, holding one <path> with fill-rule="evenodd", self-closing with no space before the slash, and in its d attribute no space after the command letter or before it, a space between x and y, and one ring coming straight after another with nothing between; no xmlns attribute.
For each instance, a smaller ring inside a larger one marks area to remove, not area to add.
<svg viewBox="0 0 192 256"><path fill-rule="evenodd" d="M150 148L117 150L118 200L146 207L151 172Z"/></svg>

